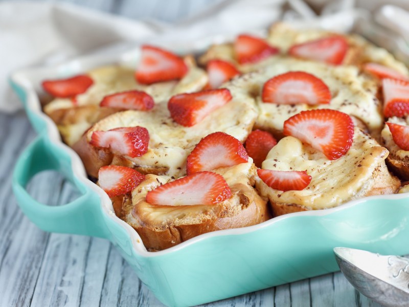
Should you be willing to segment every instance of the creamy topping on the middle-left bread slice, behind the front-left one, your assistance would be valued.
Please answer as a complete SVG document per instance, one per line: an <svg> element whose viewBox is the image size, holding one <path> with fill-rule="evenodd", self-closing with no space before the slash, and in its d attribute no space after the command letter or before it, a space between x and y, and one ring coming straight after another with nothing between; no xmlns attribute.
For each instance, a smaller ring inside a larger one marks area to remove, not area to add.
<svg viewBox="0 0 409 307"><path fill-rule="evenodd" d="M233 86L231 88L235 90ZM244 142L257 118L254 99L238 93L192 127L177 124L170 117L167 104L156 104L149 112L125 111L113 114L95 124L87 133L88 141L93 131L118 127L142 126L149 131L149 149L137 158L125 157L138 166L167 167L169 176L186 174L186 159L194 146L205 136L222 131Z"/></svg>

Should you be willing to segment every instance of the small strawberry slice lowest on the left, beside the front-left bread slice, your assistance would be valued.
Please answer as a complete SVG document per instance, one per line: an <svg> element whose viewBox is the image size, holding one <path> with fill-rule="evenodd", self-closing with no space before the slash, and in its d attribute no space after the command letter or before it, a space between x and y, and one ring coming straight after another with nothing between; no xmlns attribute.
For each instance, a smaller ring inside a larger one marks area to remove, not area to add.
<svg viewBox="0 0 409 307"><path fill-rule="evenodd" d="M98 172L98 183L109 197L129 193L144 180L145 175L126 166L103 166Z"/></svg>

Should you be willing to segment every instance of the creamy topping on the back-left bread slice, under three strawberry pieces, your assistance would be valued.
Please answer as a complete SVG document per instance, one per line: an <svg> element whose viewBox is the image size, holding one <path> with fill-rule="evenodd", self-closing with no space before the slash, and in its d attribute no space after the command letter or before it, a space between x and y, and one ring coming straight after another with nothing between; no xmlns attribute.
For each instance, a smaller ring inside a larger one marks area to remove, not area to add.
<svg viewBox="0 0 409 307"><path fill-rule="evenodd" d="M135 80L133 69L120 65L108 65L88 72L94 80L89 89L76 97L74 104L71 99L56 98L44 106L44 112L50 114L56 109L73 106L99 104L106 95L123 91L138 90L151 95L155 103L167 102L168 99L179 93L196 92L208 82L205 71L197 68L188 57L185 59L189 67L188 73L179 81L157 82L149 85L140 84Z"/></svg>

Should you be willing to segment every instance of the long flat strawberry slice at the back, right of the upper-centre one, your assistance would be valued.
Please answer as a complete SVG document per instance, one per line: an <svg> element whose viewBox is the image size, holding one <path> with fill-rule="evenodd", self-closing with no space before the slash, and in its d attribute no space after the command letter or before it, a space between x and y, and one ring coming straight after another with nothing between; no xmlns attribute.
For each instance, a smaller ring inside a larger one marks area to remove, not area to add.
<svg viewBox="0 0 409 307"><path fill-rule="evenodd" d="M342 36L332 36L293 45L288 54L337 65L343 62L347 51L347 40Z"/></svg>

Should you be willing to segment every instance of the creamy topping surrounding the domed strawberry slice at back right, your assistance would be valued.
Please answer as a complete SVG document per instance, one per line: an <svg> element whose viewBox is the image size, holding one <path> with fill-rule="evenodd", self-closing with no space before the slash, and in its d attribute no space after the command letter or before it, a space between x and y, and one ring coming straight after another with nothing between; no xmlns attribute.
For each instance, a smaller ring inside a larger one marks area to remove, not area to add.
<svg viewBox="0 0 409 307"><path fill-rule="evenodd" d="M279 74L289 71L304 71L313 74L329 87L332 99L329 104L275 104L264 103L261 91L264 83ZM367 125L371 132L379 133L383 126L381 105L376 98L376 83L364 75L360 75L353 66L328 66L324 63L303 61L294 58L270 58L263 70L236 78L230 84L247 92L248 96L256 96L259 116L256 126L267 130L282 131L284 121L301 111L316 108L330 108L353 115ZM234 92L236 95L237 92Z"/></svg>

